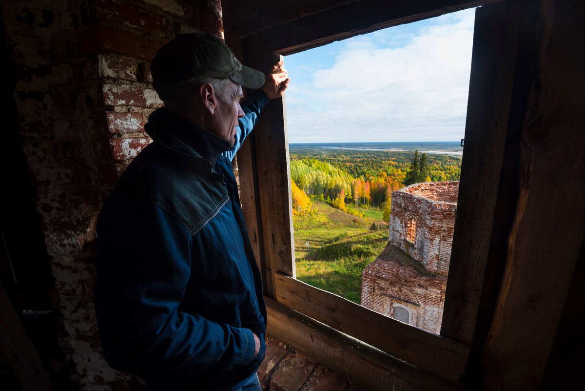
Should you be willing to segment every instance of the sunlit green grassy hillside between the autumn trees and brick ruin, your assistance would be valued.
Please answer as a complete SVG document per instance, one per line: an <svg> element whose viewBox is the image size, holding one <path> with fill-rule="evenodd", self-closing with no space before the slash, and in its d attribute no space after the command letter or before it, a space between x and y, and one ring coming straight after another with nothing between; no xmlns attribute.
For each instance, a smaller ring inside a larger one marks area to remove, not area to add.
<svg viewBox="0 0 585 391"><path fill-rule="evenodd" d="M313 208L317 211L294 217L297 279L359 304L362 270L388 242L383 211L357 208L364 212L361 218L315 200ZM383 228L371 231L372 222Z"/></svg>

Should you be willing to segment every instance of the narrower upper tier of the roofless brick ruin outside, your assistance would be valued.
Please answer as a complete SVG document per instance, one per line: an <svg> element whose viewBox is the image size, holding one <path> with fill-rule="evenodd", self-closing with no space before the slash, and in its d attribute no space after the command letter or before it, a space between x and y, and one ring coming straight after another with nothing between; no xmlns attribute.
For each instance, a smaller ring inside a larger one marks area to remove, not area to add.
<svg viewBox="0 0 585 391"><path fill-rule="evenodd" d="M459 181L442 181L417 183L392 193L389 241L429 272L449 272L458 192ZM407 235L413 220L414 242Z"/></svg>

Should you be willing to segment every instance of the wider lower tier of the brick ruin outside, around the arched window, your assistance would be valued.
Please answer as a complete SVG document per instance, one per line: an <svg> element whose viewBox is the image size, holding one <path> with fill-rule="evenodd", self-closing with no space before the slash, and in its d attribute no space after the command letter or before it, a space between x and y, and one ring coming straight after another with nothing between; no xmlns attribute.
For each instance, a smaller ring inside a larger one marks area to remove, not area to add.
<svg viewBox="0 0 585 391"><path fill-rule="evenodd" d="M439 334L446 286L446 276L421 273L382 253L362 272L361 304L389 317L396 307L407 308L409 324Z"/></svg>

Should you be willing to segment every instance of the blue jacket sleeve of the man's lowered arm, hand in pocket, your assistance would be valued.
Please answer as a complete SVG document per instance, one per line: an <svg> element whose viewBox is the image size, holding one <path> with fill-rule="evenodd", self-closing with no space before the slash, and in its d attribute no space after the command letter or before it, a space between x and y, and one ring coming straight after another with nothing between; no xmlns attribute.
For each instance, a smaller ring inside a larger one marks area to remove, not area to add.
<svg viewBox="0 0 585 391"><path fill-rule="evenodd" d="M252 331L178 311L191 275L187 228L128 198L106 201L98 219L95 310L109 365L140 375L252 362Z"/></svg>

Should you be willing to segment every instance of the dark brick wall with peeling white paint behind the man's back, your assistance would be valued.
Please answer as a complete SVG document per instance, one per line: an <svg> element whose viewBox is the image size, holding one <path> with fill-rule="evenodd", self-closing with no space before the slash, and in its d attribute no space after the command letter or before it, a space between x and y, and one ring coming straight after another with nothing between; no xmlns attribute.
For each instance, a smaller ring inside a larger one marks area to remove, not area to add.
<svg viewBox="0 0 585 391"><path fill-rule="evenodd" d="M177 33L222 37L219 0L2 0L22 149L74 363L70 389L141 389L104 362L92 305L95 222L161 106L149 61ZM123 227L121 227L121 239ZM115 385L115 386L114 386Z"/></svg>

